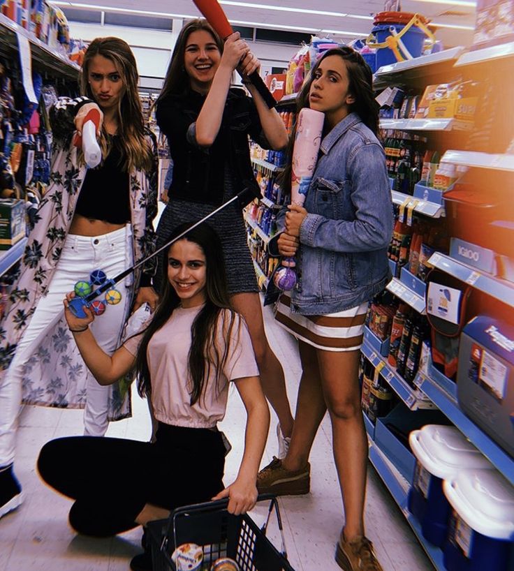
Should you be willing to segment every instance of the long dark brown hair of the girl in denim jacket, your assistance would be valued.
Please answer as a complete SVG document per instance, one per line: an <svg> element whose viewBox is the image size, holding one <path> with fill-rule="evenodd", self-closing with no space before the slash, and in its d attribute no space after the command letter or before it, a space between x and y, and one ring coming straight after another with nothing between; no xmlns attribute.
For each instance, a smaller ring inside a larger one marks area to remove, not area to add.
<svg viewBox="0 0 514 571"><path fill-rule="evenodd" d="M314 81L316 70L325 57L337 55L342 58L346 64L348 73L348 92L353 95L355 102L348 106L350 112L355 112L360 117L362 123L365 124L373 133L377 135L379 132L379 105L376 103L373 93L373 73L371 68L365 62L365 59L353 50L352 47L342 46L327 50L316 61L312 67L307 81L304 83L298 97L296 98L296 110L298 113L303 107L309 107L309 92L311 84ZM282 172L280 181L286 192L291 191L291 159L293 158L293 144L295 142L296 124L293 127L293 133L289 138L287 147L286 168Z"/></svg>

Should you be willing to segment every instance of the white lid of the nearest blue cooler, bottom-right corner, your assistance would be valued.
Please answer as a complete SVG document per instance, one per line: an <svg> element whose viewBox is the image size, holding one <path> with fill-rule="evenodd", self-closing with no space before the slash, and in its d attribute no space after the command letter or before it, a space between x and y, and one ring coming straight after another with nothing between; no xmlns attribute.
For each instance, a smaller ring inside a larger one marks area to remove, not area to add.
<svg viewBox="0 0 514 571"><path fill-rule="evenodd" d="M461 470L443 482L443 490L474 531L514 540L514 487L497 470Z"/></svg>

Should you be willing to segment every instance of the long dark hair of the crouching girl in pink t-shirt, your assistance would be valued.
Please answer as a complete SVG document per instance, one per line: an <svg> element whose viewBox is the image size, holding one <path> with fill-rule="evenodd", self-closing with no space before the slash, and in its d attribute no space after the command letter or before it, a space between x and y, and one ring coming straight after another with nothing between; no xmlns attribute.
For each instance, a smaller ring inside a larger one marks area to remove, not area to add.
<svg viewBox="0 0 514 571"><path fill-rule="evenodd" d="M191 224L179 225L168 239L178 236L187 230ZM236 313L230 304L227 290L225 262L221 241L216 232L207 223L200 224L190 230L184 237L189 242L197 244L205 255L206 282L205 304L198 312L191 327L191 348L189 350L189 378L191 380L191 406L203 396L205 382L214 371L216 387L220 387L221 371L233 350L230 339L236 337ZM161 287L159 306L155 310L152 321L142 336L135 362L135 372L138 376L138 392L140 396L152 393L152 383L147 361L147 348L152 336L166 324L172 312L177 309L180 299L167 277L168 257L170 248L163 255L165 279ZM242 327L242 320L239 321ZM219 344L219 327L223 327L223 345Z"/></svg>

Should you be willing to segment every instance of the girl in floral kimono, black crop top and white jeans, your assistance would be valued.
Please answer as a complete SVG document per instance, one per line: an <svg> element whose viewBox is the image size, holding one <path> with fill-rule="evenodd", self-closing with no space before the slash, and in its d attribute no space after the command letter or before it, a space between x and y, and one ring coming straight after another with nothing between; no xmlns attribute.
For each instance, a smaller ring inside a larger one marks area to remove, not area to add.
<svg viewBox="0 0 514 571"><path fill-rule="evenodd" d="M20 403L85 408L85 434L103 436L109 420L130 415L128 384L102 387L91 376L62 308L66 292L94 269L115 276L154 249L156 145L145 128L138 71L129 45L96 38L85 54L83 94L50 111L54 140L50 185L0 325L0 517L22 501L13 473ZM91 108L101 111L103 162L88 169L73 144ZM94 325L107 353L119 345L129 311L156 303L153 260L117 285L122 301ZM129 379L127 379L127 382Z"/></svg>

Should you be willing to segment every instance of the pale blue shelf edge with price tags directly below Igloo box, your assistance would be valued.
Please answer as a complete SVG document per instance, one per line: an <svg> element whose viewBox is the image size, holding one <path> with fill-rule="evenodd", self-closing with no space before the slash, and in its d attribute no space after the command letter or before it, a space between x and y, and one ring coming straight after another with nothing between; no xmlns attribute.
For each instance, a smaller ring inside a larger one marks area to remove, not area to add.
<svg viewBox="0 0 514 571"><path fill-rule="evenodd" d="M480 272L474 267L457 262L450 256L439 252L432 254L428 263L473 288L499 299L508 306L514 307L514 283Z"/></svg>

